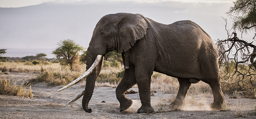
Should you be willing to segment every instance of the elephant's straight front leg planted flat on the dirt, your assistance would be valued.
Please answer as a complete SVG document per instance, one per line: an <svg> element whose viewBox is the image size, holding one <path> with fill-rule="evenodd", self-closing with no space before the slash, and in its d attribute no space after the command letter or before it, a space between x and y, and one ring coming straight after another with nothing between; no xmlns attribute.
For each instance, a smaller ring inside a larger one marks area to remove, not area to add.
<svg viewBox="0 0 256 119"><path fill-rule="evenodd" d="M139 88L139 95L142 104L142 106L137 110L137 113L152 113L154 112L154 108L150 103L150 82L153 70L146 73L141 73L141 71L142 70L136 72L137 85Z"/></svg>

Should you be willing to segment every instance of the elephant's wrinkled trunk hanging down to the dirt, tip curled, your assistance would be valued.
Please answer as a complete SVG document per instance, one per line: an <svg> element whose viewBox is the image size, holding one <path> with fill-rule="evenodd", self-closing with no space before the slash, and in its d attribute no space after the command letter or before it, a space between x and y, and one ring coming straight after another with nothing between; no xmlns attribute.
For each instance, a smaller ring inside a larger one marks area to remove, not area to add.
<svg viewBox="0 0 256 119"><path fill-rule="evenodd" d="M88 56L86 61L86 70L88 70L91 67L94 60L96 59L96 55L92 55L90 54L90 52L87 52L86 55ZM92 112L92 109L88 108L88 103L91 100L96 78L100 73L102 63L103 63L103 57L101 58L99 65L96 67L96 69L94 69L92 73L86 77L86 86L85 86L84 96L82 100L82 107L86 112Z"/></svg>

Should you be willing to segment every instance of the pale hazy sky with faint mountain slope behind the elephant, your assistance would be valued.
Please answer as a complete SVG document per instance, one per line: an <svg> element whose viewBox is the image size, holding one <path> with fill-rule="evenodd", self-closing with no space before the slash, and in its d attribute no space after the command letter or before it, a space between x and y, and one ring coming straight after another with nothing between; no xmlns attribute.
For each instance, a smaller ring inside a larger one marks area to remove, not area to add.
<svg viewBox="0 0 256 119"><path fill-rule="evenodd" d="M8 49L5 57L37 52L52 58L60 40L74 39L87 48L98 20L120 12L140 13L164 24L192 20L213 40L225 39L221 17L229 20L231 28L225 13L232 6L232 0L0 0L0 49Z"/></svg>

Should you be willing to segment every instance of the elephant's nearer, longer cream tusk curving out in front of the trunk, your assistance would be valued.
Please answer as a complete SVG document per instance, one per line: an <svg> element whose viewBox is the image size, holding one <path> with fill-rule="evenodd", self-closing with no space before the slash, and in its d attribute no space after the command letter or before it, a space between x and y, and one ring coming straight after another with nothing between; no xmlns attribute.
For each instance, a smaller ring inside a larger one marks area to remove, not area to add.
<svg viewBox="0 0 256 119"><path fill-rule="evenodd" d="M70 84L62 87L61 89L59 89L58 91L62 91L66 88L69 88L71 87L72 85L75 85L77 84L79 81L81 81L84 77L87 77L88 75L90 75L92 73L92 71L97 67L97 65L99 64L100 60L102 58L102 55L99 54L97 55L95 61L93 62L92 66L83 74L81 75L80 77L78 77L76 80L72 81Z"/></svg>

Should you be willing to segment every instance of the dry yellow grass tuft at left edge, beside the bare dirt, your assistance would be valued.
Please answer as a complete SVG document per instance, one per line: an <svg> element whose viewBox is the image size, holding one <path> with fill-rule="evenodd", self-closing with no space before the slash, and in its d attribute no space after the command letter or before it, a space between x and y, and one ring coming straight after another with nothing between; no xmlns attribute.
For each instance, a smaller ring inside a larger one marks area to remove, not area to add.
<svg viewBox="0 0 256 119"><path fill-rule="evenodd" d="M9 95L9 96L22 96L22 97L33 97L31 92L31 85L29 85L29 89L27 86L29 84L24 85L16 85L14 82L7 80L6 78L0 78L0 95Z"/></svg>

